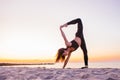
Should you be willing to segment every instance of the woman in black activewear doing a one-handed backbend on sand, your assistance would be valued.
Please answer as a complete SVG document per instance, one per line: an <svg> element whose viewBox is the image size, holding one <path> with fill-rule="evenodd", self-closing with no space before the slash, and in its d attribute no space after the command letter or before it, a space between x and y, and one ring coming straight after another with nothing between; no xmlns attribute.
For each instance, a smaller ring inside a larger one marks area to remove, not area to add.
<svg viewBox="0 0 120 80"><path fill-rule="evenodd" d="M76 24L76 23L77 23L78 30L76 32L75 39L73 39L71 42L68 42L62 28L67 27L68 25L71 25L71 24ZM62 60L62 61L65 60L64 65L63 65L63 68L65 68L65 66L68 63L68 60L71 56L71 53L73 51L77 50L78 47L80 46L84 53L84 63L85 63L85 67L82 67L82 68L88 68L87 48L86 48L86 44L85 44L85 40L84 40L84 36L83 36L83 25L82 25L81 19L77 18L75 20L72 20L72 21L60 26L60 31L61 31L62 37L65 41L66 48L60 48L58 50L56 62L58 62L59 60ZM65 59L65 56L67 56L66 59Z"/></svg>

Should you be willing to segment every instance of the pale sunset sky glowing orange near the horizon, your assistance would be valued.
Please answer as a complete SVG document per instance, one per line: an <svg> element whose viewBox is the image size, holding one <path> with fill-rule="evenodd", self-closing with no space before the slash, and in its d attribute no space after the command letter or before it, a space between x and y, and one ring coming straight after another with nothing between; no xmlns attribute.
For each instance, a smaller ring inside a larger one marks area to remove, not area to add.
<svg viewBox="0 0 120 80"><path fill-rule="evenodd" d="M54 60L59 26L81 18L91 61L120 61L119 0L0 0L0 59ZM64 28L69 41L77 25ZM83 60L79 48L71 60Z"/></svg>

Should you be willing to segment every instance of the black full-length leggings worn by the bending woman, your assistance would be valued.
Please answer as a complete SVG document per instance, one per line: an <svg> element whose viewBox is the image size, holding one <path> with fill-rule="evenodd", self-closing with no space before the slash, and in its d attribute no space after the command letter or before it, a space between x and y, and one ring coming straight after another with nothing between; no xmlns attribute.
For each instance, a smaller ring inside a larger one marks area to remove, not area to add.
<svg viewBox="0 0 120 80"><path fill-rule="evenodd" d="M78 30L76 32L76 37L80 37L81 38L81 49L84 53L84 63L87 66L88 65L88 55L87 55L87 48L86 48L86 43L84 40L84 36L83 36L83 25L82 25L82 21L80 18L77 18L75 20L72 20L70 22L67 23L67 25L70 24L76 24L78 23Z"/></svg>

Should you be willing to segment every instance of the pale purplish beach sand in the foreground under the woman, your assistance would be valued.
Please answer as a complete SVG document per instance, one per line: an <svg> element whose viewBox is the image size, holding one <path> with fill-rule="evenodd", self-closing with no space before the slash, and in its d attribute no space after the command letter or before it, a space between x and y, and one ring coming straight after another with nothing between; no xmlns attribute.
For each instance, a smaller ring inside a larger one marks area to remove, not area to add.
<svg viewBox="0 0 120 80"><path fill-rule="evenodd" d="M0 80L120 80L120 69L0 67Z"/></svg>

